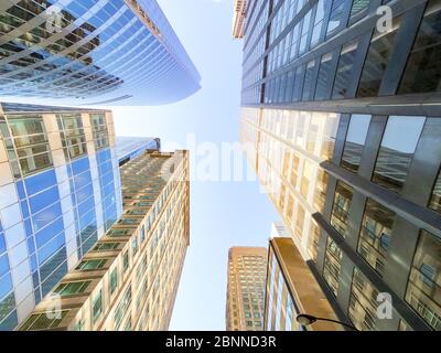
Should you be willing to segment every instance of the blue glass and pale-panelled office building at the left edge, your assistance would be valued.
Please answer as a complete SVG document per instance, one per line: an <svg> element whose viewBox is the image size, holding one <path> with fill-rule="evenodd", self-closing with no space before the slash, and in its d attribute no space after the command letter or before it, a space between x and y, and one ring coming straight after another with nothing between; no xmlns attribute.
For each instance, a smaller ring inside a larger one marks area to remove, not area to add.
<svg viewBox="0 0 441 353"><path fill-rule="evenodd" d="M112 116L0 105L0 330L11 330L122 213Z"/></svg>

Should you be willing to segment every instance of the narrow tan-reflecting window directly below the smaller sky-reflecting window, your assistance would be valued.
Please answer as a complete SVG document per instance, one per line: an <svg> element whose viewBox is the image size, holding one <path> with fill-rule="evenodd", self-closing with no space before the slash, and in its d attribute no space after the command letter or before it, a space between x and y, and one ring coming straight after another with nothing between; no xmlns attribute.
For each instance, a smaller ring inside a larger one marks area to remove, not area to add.
<svg viewBox="0 0 441 353"><path fill-rule="evenodd" d="M342 235L346 236L347 217L349 214L354 190L338 181L335 189L334 206L332 208L331 225Z"/></svg>

